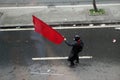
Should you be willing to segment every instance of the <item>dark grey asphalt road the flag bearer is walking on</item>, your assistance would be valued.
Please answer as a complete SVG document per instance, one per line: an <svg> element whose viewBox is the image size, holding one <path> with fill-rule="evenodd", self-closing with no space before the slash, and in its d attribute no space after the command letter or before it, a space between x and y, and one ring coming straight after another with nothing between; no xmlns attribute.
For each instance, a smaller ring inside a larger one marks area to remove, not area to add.
<svg viewBox="0 0 120 80"><path fill-rule="evenodd" d="M0 80L120 80L119 30L58 31L69 41L79 34L85 43L80 56L93 58L81 59L73 69L69 68L67 60L33 61L35 57L68 56L71 48L64 42L55 45L34 31L0 32Z"/></svg>

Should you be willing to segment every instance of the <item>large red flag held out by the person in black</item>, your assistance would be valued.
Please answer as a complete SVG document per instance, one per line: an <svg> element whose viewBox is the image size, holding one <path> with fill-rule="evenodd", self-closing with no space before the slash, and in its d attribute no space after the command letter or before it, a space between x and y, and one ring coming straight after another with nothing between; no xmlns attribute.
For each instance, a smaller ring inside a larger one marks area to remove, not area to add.
<svg viewBox="0 0 120 80"><path fill-rule="evenodd" d="M39 34L41 34L42 36L44 36L45 38L47 38L55 44L60 44L63 42L64 37L60 33L58 33L55 29L53 29L51 26L47 25L37 17L32 17L36 32L38 32Z"/></svg>

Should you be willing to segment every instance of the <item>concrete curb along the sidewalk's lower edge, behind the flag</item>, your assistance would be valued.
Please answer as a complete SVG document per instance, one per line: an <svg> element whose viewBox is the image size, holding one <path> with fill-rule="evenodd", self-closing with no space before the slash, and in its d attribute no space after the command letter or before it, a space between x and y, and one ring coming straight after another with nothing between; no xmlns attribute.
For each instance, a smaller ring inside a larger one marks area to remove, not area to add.
<svg viewBox="0 0 120 80"><path fill-rule="evenodd" d="M119 25L120 21L69 21L69 22L53 22L53 23L48 23L48 25L56 27L56 26L89 26L90 24L93 25L101 25L101 24L106 24L106 25ZM2 27L28 27L28 26L33 26L33 24L9 24L9 25L0 25L0 28Z"/></svg>

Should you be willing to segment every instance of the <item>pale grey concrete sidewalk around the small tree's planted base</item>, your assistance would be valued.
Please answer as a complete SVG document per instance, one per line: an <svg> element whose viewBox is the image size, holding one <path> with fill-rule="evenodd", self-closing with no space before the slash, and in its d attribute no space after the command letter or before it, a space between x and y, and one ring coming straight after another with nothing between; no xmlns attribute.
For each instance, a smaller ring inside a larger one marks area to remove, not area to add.
<svg viewBox="0 0 120 80"><path fill-rule="evenodd" d="M49 25L120 22L120 4L98 4L97 7L105 9L106 14L90 16L89 9L93 8L92 5L0 7L0 12L3 13L0 26L33 25L32 15Z"/></svg>

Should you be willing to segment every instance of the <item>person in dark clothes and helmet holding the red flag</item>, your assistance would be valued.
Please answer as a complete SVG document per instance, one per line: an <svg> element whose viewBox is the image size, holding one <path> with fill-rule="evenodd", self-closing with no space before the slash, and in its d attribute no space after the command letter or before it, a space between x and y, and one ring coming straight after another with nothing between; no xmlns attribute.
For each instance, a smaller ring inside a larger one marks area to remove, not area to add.
<svg viewBox="0 0 120 80"><path fill-rule="evenodd" d="M74 67L75 63L79 63L79 52L82 51L84 43L79 35L74 36L74 42L72 43L68 42L66 38L64 40L68 46L72 46L68 61L70 61L70 67Z"/></svg>

